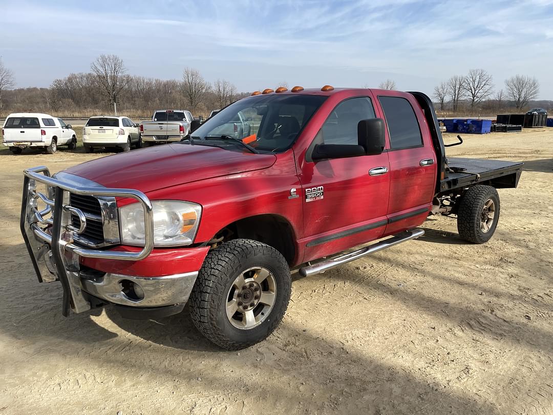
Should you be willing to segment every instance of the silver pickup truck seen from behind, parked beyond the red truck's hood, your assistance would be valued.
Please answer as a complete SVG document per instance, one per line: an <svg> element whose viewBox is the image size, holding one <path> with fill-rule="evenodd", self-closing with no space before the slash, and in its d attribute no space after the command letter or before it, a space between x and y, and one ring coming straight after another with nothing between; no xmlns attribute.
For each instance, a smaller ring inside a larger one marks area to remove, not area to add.
<svg viewBox="0 0 553 415"><path fill-rule="evenodd" d="M180 141L190 133L190 124L194 120L192 113L185 110L156 110L152 121L140 125L144 147L153 143Z"/></svg>

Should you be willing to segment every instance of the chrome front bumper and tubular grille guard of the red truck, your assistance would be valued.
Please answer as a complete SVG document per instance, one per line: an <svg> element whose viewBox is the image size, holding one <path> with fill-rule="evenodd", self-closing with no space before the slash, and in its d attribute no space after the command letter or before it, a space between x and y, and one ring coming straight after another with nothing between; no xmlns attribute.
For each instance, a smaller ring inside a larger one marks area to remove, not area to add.
<svg viewBox="0 0 553 415"><path fill-rule="evenodd" d="M101 186L79 186L66 180L50 177L45 167L24 171L23 199L20 229L29 251L39 282L60 281L64 289L62 313L69 315L89 310L93 305L108 302L135 308L159 308L186 303L197 277L196 270L180 274L161 273L152 276L134 274L136 268L122 263L139 263L153 250L152 203L142 192L131 189L109 189ZM36 183L46 186L45 194L36 189ZM86 215L70 205L69 194L133 198L142 204L145 223L145 246L123 250L87 249L74 237L86 229ZM45 204L39 210L37 202ZM71 215L77 215L81 226L77 229ZM50 217L48 217L50 216ZM204 251L197 251L205 256ZM94 269L84 263L113 261L117 271ZM130 271L128 274L120 272ZM109 272L111 271L111 272ZM113 273L112 273L113 272Z"/></svg>

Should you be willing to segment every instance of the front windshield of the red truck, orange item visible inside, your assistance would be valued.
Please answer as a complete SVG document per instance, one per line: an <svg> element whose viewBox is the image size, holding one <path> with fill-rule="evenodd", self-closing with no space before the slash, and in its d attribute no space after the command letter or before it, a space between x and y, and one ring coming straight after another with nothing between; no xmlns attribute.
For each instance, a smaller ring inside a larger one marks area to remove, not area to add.
<svg viewBox="0 0 553 415"><path fill-rule="evenodd" d="M320 95L267 95L234 102L192 133L205 140L230 136L259 151L290 148L309 118L326 100Z"/></svg>

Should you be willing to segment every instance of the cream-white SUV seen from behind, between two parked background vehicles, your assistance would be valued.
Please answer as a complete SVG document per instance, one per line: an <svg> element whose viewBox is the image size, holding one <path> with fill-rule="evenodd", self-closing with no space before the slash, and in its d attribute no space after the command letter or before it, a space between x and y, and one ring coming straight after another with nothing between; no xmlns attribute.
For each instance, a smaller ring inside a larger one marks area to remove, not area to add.
<svg viewBox="0 0 553 415"><path fill-rule="evenodd" d="M82 129L85 152L92 153L95 147L117 147L129 151L131 146L142 147L139 125L127 117L90 117Z"/></svg>

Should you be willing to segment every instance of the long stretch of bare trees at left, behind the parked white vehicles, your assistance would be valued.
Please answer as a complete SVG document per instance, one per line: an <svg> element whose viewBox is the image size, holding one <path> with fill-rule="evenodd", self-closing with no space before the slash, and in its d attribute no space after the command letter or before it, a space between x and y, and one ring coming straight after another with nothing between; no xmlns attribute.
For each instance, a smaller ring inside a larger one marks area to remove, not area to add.
<svg viewBox="0 0 553 415"><path fill-rule="evenodd" d="M15 79L0 61L0 116L7 111L50 112L64 116L124 113L148 116L155 109L182 108L207 116L246 96L225 79L210 83L200 71L185 68L181 79L163 80L128 74L117 55L100 55L90 72L55 79L48 88L12 90Z"/></svg>

